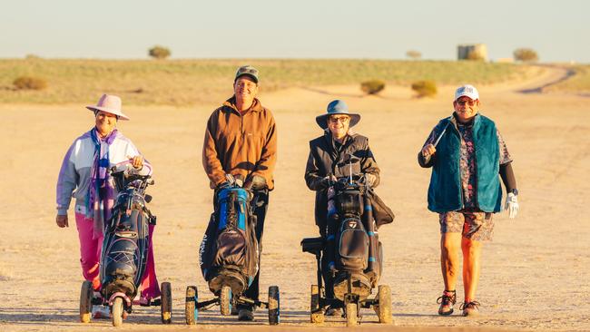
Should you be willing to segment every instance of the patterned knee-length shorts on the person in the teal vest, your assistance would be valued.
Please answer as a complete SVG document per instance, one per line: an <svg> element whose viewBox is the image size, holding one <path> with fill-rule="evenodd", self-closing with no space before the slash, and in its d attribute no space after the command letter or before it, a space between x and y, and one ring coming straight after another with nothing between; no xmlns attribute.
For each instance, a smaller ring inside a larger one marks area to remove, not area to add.
<svg viewBox="0 0 590 332"><path fill-rule="evenodd" d="M480 210L458 210L440 213L441 233L461 233L464 238L484 241L492 239L492 213Z"/></svg>

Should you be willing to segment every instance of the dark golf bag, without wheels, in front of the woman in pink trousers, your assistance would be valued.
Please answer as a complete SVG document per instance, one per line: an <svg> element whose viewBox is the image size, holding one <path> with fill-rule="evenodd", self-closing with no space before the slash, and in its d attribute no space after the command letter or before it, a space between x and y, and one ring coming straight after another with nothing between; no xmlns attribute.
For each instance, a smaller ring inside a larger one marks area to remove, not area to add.
<svg viewBox="0 0 590 332"><path fill-rule="evenodd" d="M114 168L111 174L119 193L112 217L104 225L100 265L102 293L104 298L117 292L134 298L147 262L148 225L156 222L156 217L146 207L152 197L144 193L153 181L149 181L150 175L132 175Z"/></svg>

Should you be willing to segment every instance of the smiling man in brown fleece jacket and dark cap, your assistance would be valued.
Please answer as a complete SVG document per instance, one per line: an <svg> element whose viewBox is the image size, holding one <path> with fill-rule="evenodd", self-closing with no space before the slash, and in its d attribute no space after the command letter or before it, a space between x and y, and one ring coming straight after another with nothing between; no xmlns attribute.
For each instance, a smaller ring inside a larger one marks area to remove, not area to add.
<svg viewBox="0 0 590 332"><path fill-rule="evenodd" d="M256 98L259 73L251 65L238 68L233 82L233 96L211 113L202 148L202 164L211 181L211 189L223 186L226 174L243 180L257 201L256 238L259 241L259 264L262 231L274 189L272 172L277 160L277 131L269 109ZM245 296L259 297L260 269ZM241 306L238 318L253 320L253 306Z"/></svg>

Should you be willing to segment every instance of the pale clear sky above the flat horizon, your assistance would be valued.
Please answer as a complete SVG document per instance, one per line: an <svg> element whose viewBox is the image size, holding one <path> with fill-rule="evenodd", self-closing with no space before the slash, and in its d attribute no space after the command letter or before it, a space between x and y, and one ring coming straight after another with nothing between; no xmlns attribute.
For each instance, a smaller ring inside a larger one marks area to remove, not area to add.
<svg viewBox="0 0 590 332"><path fill-rule="evenodd" d="M491 59L519 47L543 62L590 63L583 0L0 0L0 57L455 59L485 43Z"/></svg>

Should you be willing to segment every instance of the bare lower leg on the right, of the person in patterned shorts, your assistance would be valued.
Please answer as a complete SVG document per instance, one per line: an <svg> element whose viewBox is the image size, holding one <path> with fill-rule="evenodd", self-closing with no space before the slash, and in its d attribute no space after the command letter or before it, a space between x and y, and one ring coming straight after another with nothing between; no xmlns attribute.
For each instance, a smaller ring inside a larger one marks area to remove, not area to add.
<svg viewBox="0 0 590 332"><path fill-rule="evenodd" d="M465 289L465 301L473 301L476 298L477 283L481 271L481 241L463 238L463 288Z"/></svg>

